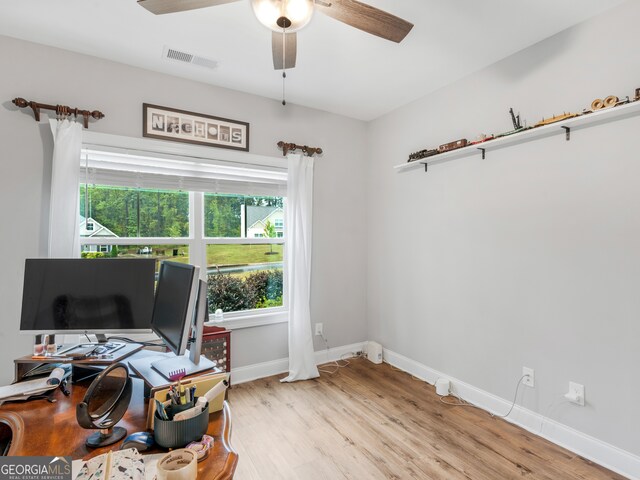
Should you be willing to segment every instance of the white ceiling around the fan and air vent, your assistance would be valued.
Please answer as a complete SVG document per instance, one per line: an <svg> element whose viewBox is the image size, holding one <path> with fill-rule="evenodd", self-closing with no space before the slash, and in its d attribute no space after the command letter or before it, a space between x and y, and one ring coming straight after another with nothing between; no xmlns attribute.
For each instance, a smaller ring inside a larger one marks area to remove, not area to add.
<svg viewBox="0 0 640 480"><path fill-rule="evenodd" d="M317 13L287 101L371 120L625 0L368 0L415 24L401 44ZM0 34L281 99L271 33L249 0L156 16L136 0L3 0ZM162 58L164 46L215 70Z"/></svg>

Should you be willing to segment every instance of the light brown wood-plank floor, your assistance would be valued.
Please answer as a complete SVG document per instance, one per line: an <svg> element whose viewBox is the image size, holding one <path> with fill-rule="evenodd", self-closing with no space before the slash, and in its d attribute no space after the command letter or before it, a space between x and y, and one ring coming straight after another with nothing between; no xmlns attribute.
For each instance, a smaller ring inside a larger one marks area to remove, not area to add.
<svg viewBox="0 0 640 480"><path fill-rule="evenodd" d="M623 479L386 364L282 376L229 390L238 480Z"/></svg>

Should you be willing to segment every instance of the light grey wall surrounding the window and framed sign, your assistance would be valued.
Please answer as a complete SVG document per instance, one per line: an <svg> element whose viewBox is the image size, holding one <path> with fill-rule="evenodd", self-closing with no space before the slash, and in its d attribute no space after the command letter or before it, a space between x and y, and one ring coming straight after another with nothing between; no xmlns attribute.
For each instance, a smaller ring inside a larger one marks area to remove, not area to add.
<svg viewBox="0 0 640 480"><path fill-rule="evenodd" d="M106 117L90 125L97 132L141 136L142 103L148 102L247 121L252 153L279 156L279 140L321 146L312 321L324 323L330 346L366 339L363 122L2 36L0 58L6 67L0 80L0 384L12 378L13 358L30 353L31 338L18 336L24 260L46 255L50 192L48 124L36 124L30 110L17 111L10 100L18 96L100 109ZM314 340L317 350L324 348ZM286 325L237 330L232 343L233 366L280 359L287 356Z"/></svg>

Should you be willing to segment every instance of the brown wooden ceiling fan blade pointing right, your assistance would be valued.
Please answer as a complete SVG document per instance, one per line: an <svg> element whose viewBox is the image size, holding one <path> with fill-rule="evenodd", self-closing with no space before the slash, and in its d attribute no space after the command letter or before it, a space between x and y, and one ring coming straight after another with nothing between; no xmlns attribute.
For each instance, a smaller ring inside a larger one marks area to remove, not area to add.
<svg viewBox="0 0 640 480"><path fill-rule="evenodd" d="M356 0L316 0L318 11L372 35L400 43L413 23Z"/></svg>

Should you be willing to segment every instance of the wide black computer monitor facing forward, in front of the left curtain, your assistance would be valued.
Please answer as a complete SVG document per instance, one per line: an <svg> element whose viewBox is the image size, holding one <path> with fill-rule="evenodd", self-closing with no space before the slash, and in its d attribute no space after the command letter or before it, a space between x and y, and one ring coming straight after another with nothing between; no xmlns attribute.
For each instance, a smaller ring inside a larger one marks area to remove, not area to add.
<svg viewBox="0 0 640 480"><path fill-rule="evenodd" d="M27 259L20 331L147 333L154 283L153 259Z"/></svg>

